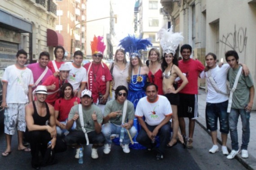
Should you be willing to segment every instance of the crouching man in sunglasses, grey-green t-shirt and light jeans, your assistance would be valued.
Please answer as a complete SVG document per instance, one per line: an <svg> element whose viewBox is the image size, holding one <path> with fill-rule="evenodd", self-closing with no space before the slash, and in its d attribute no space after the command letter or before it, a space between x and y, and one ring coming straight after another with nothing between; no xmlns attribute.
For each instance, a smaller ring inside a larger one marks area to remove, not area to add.
<svg viewBox="0 0 256 170"><path fill-rule="evenodd" d="M134 119L134 106L132 102L127 101L127 109L125 114L124 123L122 124L124 114L124 101L128 95L128 89L124 85L119 85L115 90L115 100L111 100L106 103L104 110L102 133L105 136L105 145L103 152L105 154L110 153L110 144L112 143L110 136L112 134L120 134L121 128L124 127L124 140L120 143L124 153L130 153L129 143L130 139L128 131L133 138L137 130L133 125Z"/></svg>

